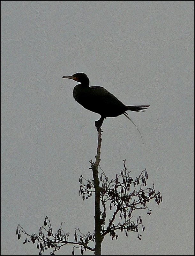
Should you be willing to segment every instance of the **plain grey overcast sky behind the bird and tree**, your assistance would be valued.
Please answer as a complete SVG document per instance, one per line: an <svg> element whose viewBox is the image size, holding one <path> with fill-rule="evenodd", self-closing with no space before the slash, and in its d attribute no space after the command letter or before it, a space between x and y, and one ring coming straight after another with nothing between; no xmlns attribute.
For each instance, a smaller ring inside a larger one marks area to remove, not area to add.
<svg viewBox="0 0 195 256"><path fill-rule="evenodd" d="M79 198L91 178L99 115L72 97L84 72L144 113L103 124L101 168L114 178L123 159L136 177L147 168L163 203L142 216L142 240L105 237L104 255L193 254L193 1L1 1L2 254L37 255L17 240L18 223L38 232L94 229L94 200ZM22 236L25 239L25 236ZM70 255L72 246L56 254ZM79 251L76 252L79 254ZM92 253L86 253L91 255Z"/></svg>

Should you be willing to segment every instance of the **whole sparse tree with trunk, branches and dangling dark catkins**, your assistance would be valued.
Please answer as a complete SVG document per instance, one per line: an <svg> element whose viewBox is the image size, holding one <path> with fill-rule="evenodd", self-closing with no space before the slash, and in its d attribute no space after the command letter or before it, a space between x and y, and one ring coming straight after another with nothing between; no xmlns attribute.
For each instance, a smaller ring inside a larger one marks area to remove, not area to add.
<svg viewBox="0 0 195 256"><path fill-rule="evenodd" d="M42 252L52 249L50 255L58 251L62 246L67 244L73 244L72 255L74 255L74 249L79 248L80 253L84 254L86 250L94 252L94 255L101 255L101 243L104 236L109 234L112 240L118 239L118 232L125 232L128 237L128 232L133 231L137 233L137 237L141 240L141 234L139 228L142 228L144 232L145 226L142 223L142 218L139 216L136 221L132 220L132 212L137 209L147 209L147 214L150 215L152 210L147 207L147 203L151 200L155 200L156 204L162 202L161 193L156 193L154 188L154 182L152 187L146 187L146 180L148 174L146 169L143 170L139 177L133 179L131 177L131 171L128 171L123 160L123 169L120 174L116 174L116 177L112 180L106 176L105 172L100 167L101 156L101 128L98 131L98 145L97 155L95 156L95 162L90 160L90 169L93 172L93 179L85 179L82 175L79 178L80 189L79 195L82 199L88 199L95 194L95 227L94 233L88 232L84 235L80 229L76 228L74 233L74 242L69 241L69 233L65 233L62 224L54 233L51 222L48 217L45 217L44 226L39 228L39 234L30 235L20 225L16 229L16 235L18 239L21 238L21 233L26 235L26 239L23 244L27 242L36 243L39 249L39 255ZM98 167L101 170L100 177L98 176ZM107 209L113 210L112 218L106 222ZM118 220L119 219L119 222ZM117 223L117 224L116 224ZM95 244L92 247L91 244Z"/></svg>

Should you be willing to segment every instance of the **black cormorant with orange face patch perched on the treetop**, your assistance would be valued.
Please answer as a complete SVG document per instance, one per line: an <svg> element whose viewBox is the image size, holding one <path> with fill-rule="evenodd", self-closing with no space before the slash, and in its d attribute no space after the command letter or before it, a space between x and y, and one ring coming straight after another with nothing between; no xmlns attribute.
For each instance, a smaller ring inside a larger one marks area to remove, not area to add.
<svg viewBox="0 0 195 256"><path fill-rule="evenodd" d="M131 110L141 112L145 111L149 107L149 105L124 105L104 87L89 86L89 78L85 73L79 72L73 74L72 76L63 76L62 78L72 79L80 83L74 87L73 97L81 106L101 116L99 120L95 121L97 131L99 131L104 119L107 117L116 117L124 114L133 123L126 111Z"/></svg>

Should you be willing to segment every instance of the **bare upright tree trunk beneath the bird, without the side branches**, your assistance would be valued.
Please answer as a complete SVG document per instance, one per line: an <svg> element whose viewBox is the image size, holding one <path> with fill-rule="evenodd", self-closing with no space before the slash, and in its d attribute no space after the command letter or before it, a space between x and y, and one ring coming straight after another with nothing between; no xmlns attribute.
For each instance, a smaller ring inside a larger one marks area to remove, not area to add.
<svg viewBox="0 0 195 256"><path fill-rule="evenodd" d="M92 171L94 177L94 187L95 187L95 255L101 255L101 243L103 241L103 236L101 235L101 218L100 218L100 181L98 178L98 165L101 161L101 128L98 131L98 146L97 146L97 155L95 156L96 161L92 163Z"/></svg>

